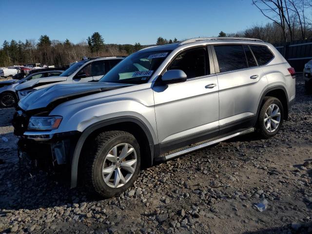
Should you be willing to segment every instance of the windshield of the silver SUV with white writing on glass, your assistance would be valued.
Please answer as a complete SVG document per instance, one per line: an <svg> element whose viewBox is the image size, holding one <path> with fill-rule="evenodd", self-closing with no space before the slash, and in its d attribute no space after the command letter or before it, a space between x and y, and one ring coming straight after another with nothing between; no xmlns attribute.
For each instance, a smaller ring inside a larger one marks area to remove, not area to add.
<svg viewBox="0 0 312 234"><path fill-rule="evenodd" d="M171 51L137 52L119 62L99 82L146 83Z"/></svg>

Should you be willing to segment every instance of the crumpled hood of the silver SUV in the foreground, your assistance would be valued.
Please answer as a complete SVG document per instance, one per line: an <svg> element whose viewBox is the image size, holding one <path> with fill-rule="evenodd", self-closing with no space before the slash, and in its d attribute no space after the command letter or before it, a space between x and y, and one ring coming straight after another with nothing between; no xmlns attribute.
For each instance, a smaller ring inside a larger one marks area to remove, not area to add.
<svg viewBox="0 0 312 234"><path fill-rule="evenodd" d="M47 107L52 102L62 102L62 100L66 101L75 97L78 98L127 86L130 86L130 84L104 82L56 84L30 93L20 100L19 106L25 111L41 109Z"/></svg>

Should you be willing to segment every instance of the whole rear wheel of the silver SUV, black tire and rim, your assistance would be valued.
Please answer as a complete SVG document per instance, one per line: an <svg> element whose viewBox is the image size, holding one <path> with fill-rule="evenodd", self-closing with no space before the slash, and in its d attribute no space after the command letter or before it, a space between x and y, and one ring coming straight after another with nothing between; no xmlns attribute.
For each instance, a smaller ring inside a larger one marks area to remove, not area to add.
<svg viewBox="0 0 312 234"><path fill-rule="evenodd" d="M258 117L258 130L262 137L275 136L284 119L283 105L278 98L266 97Z"/></svg>

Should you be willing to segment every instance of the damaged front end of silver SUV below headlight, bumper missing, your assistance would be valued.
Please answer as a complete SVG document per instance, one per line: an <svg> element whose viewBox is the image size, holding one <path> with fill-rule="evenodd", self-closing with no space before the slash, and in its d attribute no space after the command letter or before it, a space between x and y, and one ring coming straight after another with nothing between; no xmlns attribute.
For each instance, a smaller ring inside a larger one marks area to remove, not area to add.
<svg viewBox="0 0 312 234"><path fill-rule="evenodd" d="M33 113L18 110L13 117L14 134L19 137L17 145L20 158L27 158L33 166L44 171L69 174L72 155L80 133L30 132L28 122L31 115Z"/></svg>

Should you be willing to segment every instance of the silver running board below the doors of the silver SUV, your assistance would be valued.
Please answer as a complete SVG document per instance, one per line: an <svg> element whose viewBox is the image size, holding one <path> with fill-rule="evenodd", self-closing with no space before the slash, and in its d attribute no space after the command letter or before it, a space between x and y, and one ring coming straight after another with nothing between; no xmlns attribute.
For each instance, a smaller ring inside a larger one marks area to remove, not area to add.
<svg viewBox="0 0 312 234"><path fill-rule="evenodd" d="M225 137L221 137L221 138L218 138L218 139L215 139L215 140L212 140L212 141L208 141L208 142L205 142L205 143L200 144L200 145L195 145L194 147L191 147L191 148L188 148L188 149L185 149L185 150L181 150L179 152L176 152L176 153L173 153L173 154L170 154L170 155L162 156L159 159L160 160L168 160L168 159L180 156L180 155L184 155L184 154L190 153L190 152L195 151L195 150L199 150L199 149L205 148L205 147L210 146L210 145L214 145L214 144L219 143L221 141L228 140L230 138L241 136L241 135L252 133L252 132L254 132L254 128L249 128L249 129L246 129L244 131L241 131L241 132L238 132L238 133L234 133L234 134L231 134L231 135L228 135L228 136L225 136Z"/></svg>

